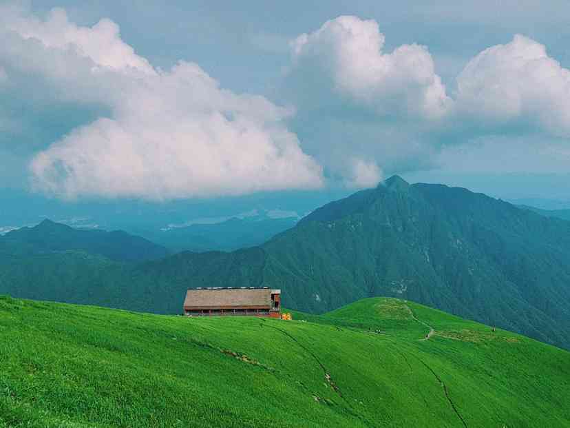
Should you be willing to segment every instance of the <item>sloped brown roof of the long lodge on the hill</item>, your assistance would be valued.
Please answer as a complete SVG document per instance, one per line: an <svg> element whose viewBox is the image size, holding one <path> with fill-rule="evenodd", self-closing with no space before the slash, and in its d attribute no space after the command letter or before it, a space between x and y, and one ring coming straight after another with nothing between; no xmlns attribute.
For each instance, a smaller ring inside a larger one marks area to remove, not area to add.
<svg viewBox="0 0 570 428"><path fill-rule="evenodd" d="M191 307L271 307L271 289L189 289L184 308Z"/></svg>

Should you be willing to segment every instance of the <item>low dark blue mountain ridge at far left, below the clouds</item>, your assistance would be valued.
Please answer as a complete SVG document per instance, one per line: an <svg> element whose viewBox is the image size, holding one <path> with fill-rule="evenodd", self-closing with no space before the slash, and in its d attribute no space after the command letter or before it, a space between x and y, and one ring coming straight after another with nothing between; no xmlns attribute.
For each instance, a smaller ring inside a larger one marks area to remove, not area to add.
<svg viewBox="0 0 570 428"><path fill-rule="evenodd" d="M154 260L169 254L165 247L120 230L78 230L50 220L8 232L0 236L0 245L43 253L79 250L125 262Z"/></svg>

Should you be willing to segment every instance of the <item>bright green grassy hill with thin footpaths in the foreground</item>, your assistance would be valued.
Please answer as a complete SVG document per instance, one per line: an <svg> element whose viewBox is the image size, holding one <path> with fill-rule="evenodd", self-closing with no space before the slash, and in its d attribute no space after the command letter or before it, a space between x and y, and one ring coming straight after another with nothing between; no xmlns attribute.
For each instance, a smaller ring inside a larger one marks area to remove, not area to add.
<svg viewBox="0 0 570 428"><path fill-rule="evenodd" d="M570 427L567 351L393 298L293 315L0 298L0 427Z"/></svg>

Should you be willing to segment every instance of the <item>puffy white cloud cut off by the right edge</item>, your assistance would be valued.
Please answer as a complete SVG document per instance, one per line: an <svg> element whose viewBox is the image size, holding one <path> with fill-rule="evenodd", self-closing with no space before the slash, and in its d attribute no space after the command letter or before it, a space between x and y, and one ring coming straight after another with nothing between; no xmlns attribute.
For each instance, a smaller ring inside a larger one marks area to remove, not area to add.
<svg viewBox="0 0 570 428"><path fill-rule="evenodd" d="M517 34L488 48L458 76L458 114L483 125L534 123L570 135L570 70L544 45Z"/></svg>

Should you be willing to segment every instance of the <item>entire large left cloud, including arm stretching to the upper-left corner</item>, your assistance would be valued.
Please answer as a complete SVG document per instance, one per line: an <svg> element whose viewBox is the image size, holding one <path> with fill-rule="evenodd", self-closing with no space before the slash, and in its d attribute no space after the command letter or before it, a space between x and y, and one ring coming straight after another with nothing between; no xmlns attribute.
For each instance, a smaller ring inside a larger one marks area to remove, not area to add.
<svg viewBox="0 0 570 428"><path fill-rule="evenodd" d="M290 109L224 90L193 63L155 69L108 19L89 28L63 10L45 21L19 8L3 12L10 43L0 48L1 65L41 80L56 102L109 112L36 154L39 190L164 199L322 185L321 167L284 124Z"/></svg>

